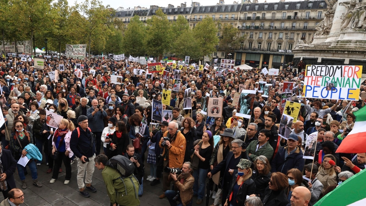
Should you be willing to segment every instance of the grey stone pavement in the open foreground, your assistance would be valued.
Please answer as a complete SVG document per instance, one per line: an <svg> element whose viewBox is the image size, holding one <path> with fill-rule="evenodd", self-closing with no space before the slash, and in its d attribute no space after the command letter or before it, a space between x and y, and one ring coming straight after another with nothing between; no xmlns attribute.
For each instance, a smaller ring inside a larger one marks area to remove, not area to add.
<svg viewBox="0 0 366 206"><path fill-rule="evenodd" d="M147 152L146 152L147 154ZM146 155L147 156L147 155ZM145 158L147 159L147 158ZM72 167L72 177L70 183L68 185L64 185L65 175L66 173L64 165L61 166L63 172L59 174L59 179L55 181L55 183L50 184L49 180L51 180L52 173L47 174L46 170L48 166L43 163L41 166L37 166L38 172L38 180L42 182L42 187L38 188L32 184L32 178L30 176L30 170L27 167L27 171L29 174L26 175L26 181L28 188L22 191L25 194L25 203L22 205L29 206L60 206L60 205L72 205L72 206L109 206L109 197L107 195L107 191L105 189L105 184L103 182L103 178L101 175L101 170L94 170L92 185L97 189L97 192L89 192L90 198L84 198L79 194L78 184L76 182L76 174L77 174L77 164L71 165ZM162 183L151 186L150 181L145 180L147 175L150 174L149 165L145 165L145 177L143 180L143 195L140 197L141 206L161 206L167 205L169 206L168 200L159 199L163 192ZM16 187L22 188L21 181L19 179L19 175L17 172L14 174ZM1 194L1 193L0 193ZM2 196L2 195L0 195ZM0 201L3 201L3 197L0 198ZM193 197L193 205L196 205L195 202L197 197ZM213 199L210 198L209 205L212 205ZM206 205L205 201L201 203L201 205Z"/></svg>

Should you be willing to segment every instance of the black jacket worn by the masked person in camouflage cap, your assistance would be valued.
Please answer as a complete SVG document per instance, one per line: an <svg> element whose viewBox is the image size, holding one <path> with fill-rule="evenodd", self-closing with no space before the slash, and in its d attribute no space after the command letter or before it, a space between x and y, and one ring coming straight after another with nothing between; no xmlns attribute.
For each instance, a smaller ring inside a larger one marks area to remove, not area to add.
<svg viewBox="0 0 366 206"><path fill-rule="evenodd" d="M238 170L234 170L234 173L232 174L232 180L229 187L229 193L227 195L227 199L229 199L232 188L234 187L234 184L236 184L236 180L238 179ZM242 185L240 185L238 193L236 194L236 201L238 201L238 205L244 205L245 200L247 199L247 195L253 195L255 192L255 183L252 179L247 179L243 182Z"/></svg>

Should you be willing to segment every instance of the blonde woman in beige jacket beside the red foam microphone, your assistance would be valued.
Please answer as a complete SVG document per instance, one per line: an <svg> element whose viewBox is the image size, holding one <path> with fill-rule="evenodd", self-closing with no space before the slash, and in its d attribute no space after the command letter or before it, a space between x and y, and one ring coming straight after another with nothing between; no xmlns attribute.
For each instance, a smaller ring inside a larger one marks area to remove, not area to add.
<svg viewBox="0 0 366 206"><path fill-rule="evenodd" d="M323 192L329 185L337 184L337 173L334 170L335 163L336 158L331 154L327 154L324 155L323 162L319 166L316 177L324 186Z"/></svg>

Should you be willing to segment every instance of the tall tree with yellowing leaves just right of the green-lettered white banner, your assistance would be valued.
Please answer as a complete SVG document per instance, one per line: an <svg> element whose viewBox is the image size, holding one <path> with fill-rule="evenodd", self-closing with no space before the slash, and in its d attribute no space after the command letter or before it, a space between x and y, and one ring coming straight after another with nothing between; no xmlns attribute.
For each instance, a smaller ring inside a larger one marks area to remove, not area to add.
<svg viewBox="0 0 366 206"><path fill-rule="evenodd" d="M89 59L90 48L93 45L94 49L104 49L107 35L111 32L107 23L114 11L102 5L98 0L85 0L83 3L75 4L72 8L74 17L77 22L74 22L77 27L73 29L80 30L85 34L87 43L89 45Z"/></svg>

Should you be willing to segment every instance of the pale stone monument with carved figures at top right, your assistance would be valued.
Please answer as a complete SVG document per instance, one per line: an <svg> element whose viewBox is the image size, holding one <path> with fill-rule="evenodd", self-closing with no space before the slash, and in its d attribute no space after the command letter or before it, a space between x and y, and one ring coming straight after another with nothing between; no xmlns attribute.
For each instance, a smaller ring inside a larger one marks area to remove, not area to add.
<svg viewBox="0 0 366 206"><path fill-rule="evenodd" d="M362 65L366 74L366 0L325 0L311 43L298 40L294 59L312 65Z"/></svg>

